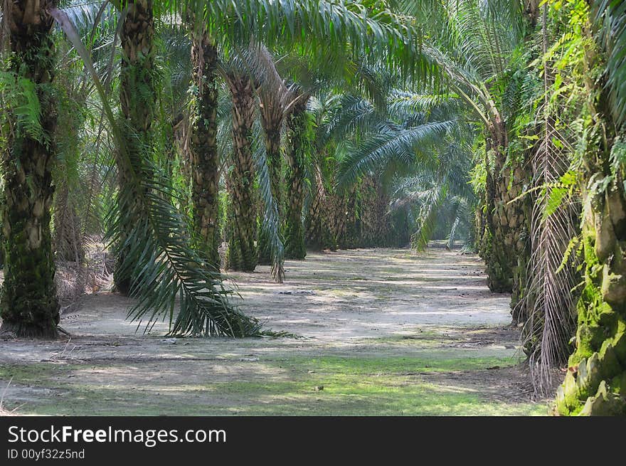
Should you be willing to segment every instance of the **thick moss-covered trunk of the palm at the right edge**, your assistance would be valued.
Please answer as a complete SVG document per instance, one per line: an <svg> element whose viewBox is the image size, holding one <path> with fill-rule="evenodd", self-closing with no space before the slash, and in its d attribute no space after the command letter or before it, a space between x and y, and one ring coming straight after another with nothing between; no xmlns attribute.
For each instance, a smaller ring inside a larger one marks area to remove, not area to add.
<svg viewBox="0 0 626 466"><path fill-rule="evenodd" d="M605 64L587 46L588 76ZM626 190L622 162L611 169L612 146L626 136L615 132L603 79L587 83L588 132L583 183L585 287L578 301L576 349L556 395L561 415L626 415ZM618 140L618 139L617 139ZM593 180L611 179L598 189Z"/></svg>

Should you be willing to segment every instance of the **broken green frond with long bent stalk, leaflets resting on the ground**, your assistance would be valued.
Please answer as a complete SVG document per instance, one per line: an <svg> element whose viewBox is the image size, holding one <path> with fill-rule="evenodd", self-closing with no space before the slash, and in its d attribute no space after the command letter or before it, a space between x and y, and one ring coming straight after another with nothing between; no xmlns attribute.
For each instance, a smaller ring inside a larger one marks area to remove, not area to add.
<svg viewBox="0 0 626 466"><path fill-rule="evenodd" d="M145 321L145 329L151 328L159 318L169 318L171 334L229 337L260 334L258 320L245 316L228 302L230 290L223 286L219 272L191 248L186 222L171 203L176 194L162 181L166 175L148 177L134 171L89 53L68 16L58 10L51 14L83 58L117 140L118 163L132 175L118 193L119 208L112 211L109 232L110 240L124 249L120 273L132 277L130 295L137 298L129 317L139 324ZM143 162L144 171L159 175L159 166L150 157L145 157ZM125 230L129 225L132 228ZM180 305L177 314L176 298Z"/></svg>

